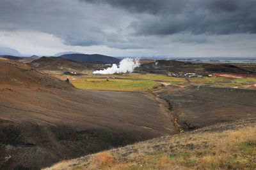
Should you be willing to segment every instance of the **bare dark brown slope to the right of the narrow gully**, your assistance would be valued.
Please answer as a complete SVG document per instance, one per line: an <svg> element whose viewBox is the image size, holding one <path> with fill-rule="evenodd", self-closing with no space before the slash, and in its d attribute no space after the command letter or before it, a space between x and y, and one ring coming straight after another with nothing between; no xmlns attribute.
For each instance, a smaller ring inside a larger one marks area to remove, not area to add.
<svg viewBox="0 0 256 170"><path fill-rule="evenodd" d="M256 118L256 90L170 85L155 93L172 105L172 114L184 131Z"/></svg>

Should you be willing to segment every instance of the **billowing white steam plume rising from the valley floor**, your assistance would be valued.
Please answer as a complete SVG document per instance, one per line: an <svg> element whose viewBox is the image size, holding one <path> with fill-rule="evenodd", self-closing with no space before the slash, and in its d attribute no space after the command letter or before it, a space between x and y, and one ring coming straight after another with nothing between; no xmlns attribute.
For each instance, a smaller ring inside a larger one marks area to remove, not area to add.
<svg viewBox="0 0 256 170"><path fill-rule="evenodd" d="M140 67L140 59L125 58L120 61L119 67L113 64L104 70L93 71L93 74L132 73L135 67Z"/></svg>

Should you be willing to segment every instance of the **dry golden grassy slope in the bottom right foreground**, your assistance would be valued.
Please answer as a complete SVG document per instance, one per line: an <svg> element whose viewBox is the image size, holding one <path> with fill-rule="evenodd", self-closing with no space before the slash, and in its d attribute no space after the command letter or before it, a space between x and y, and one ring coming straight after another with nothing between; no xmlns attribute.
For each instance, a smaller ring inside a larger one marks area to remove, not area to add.
<svg viewBox="0 0 256 170"><path fill-rule="evenodd" d="M156 138L63 161L51 169L256 169L255 123Z"/></svg>

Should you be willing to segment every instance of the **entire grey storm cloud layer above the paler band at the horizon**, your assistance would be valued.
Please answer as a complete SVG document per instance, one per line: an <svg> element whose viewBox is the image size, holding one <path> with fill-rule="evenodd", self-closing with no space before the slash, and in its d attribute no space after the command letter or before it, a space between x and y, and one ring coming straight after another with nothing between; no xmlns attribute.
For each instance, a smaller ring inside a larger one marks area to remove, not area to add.
<svg viewBox="0 0 256 170"><path fill-rule="evenodd" d="M254 34L255 13L255 0L0 0L0 31L44 32L70 46L152 49Z"/></svg>

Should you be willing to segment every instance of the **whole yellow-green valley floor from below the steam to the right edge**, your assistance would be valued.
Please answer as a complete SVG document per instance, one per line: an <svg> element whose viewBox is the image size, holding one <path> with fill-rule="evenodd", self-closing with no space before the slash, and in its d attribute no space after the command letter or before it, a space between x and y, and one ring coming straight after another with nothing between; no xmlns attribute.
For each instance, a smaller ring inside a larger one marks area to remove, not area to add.
<svg viewBox="0 0 256 170"><path fill-rule="evenodd" d="M220 85L211 85L212 87L237 87L240 85L239 83L256 83L256 78L240 78L236 80L231 80L230 78L221 77L196 77L189 78L189 80L191 81L191 83L200 84L225 83ZM163 74L89 74L86 76L81 76L79 78L76 77L76 80L70 80L70 82L78 89L117 91L148 90L158 85L156 81L163 81L165 83L170 83L174 85L190 84L188 83L188 81L186 81L185 78L177 78L172 76L166 76Z"/></svg>

